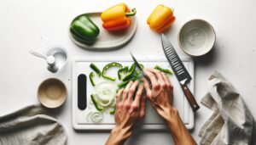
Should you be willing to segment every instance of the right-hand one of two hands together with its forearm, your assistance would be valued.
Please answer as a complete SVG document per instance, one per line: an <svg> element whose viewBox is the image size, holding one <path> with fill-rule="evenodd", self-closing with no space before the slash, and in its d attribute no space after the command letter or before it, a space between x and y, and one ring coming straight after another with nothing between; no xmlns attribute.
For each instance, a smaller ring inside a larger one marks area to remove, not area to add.
<svg viewBox="0 0 256 145"><path fill-rule="evenodd" d="M196 142L189 134L183 121L181 120L177 109L173 107L173 86L172 82L163 72L154 69L144 70L151 81L150 88L148 81L143 79L144 87L147 91L147 98L156 111L166 120L166 123L172 132L172 137L176 145L195 145Z"/></svg>

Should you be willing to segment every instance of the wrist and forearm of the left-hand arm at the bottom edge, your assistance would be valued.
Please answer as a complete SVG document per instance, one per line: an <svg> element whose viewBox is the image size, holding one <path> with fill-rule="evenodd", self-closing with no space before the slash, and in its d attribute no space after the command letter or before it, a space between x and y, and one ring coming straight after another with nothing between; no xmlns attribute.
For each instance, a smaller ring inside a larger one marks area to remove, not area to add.
<svg viewBox="0 0 256 145"><path fill-rule="evenodd" d="M112 131L110 136L108 137L108 141L106 145L120 145L124 144L125 141L131 137L131 131L127 129L121 129L119 127L115 127Z"/></svg>

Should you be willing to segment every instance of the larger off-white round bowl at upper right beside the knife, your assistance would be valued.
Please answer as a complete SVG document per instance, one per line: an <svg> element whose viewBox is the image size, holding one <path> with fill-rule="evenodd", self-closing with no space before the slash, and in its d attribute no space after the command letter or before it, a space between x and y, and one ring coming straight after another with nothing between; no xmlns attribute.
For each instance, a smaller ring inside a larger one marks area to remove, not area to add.
<svg viewBox="0 0 256 145"><path fill-rule="evenodd" d="M189 20L182 26L177 36L183 52L191 56L201 56L210 52L215 40L215 31L206 20Z"/></svg>

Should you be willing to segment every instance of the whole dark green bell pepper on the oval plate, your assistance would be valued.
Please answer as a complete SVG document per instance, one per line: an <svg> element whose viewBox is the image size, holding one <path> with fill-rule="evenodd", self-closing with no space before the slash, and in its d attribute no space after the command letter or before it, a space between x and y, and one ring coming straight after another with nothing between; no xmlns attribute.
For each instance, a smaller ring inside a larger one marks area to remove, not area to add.
<svg viewBox="0 0 256 145"><path fill-rule="evenodd" d="M92 44L96 42L96 37L99 35L100 30L88 16L81 15L71 24L70 32L77 41Z"/></svg>

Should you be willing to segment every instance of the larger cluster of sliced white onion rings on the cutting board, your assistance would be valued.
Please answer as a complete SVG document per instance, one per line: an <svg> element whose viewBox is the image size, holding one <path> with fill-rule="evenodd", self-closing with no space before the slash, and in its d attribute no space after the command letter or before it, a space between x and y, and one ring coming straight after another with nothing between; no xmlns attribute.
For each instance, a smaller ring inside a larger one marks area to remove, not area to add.
<svg viewBox="0 0 256 145"><path fill-rule="evenodd" d="M116 84L110 81L102 81L96 85L96 95L102 107L107 107L112 103L116 89Z"/></svg>

